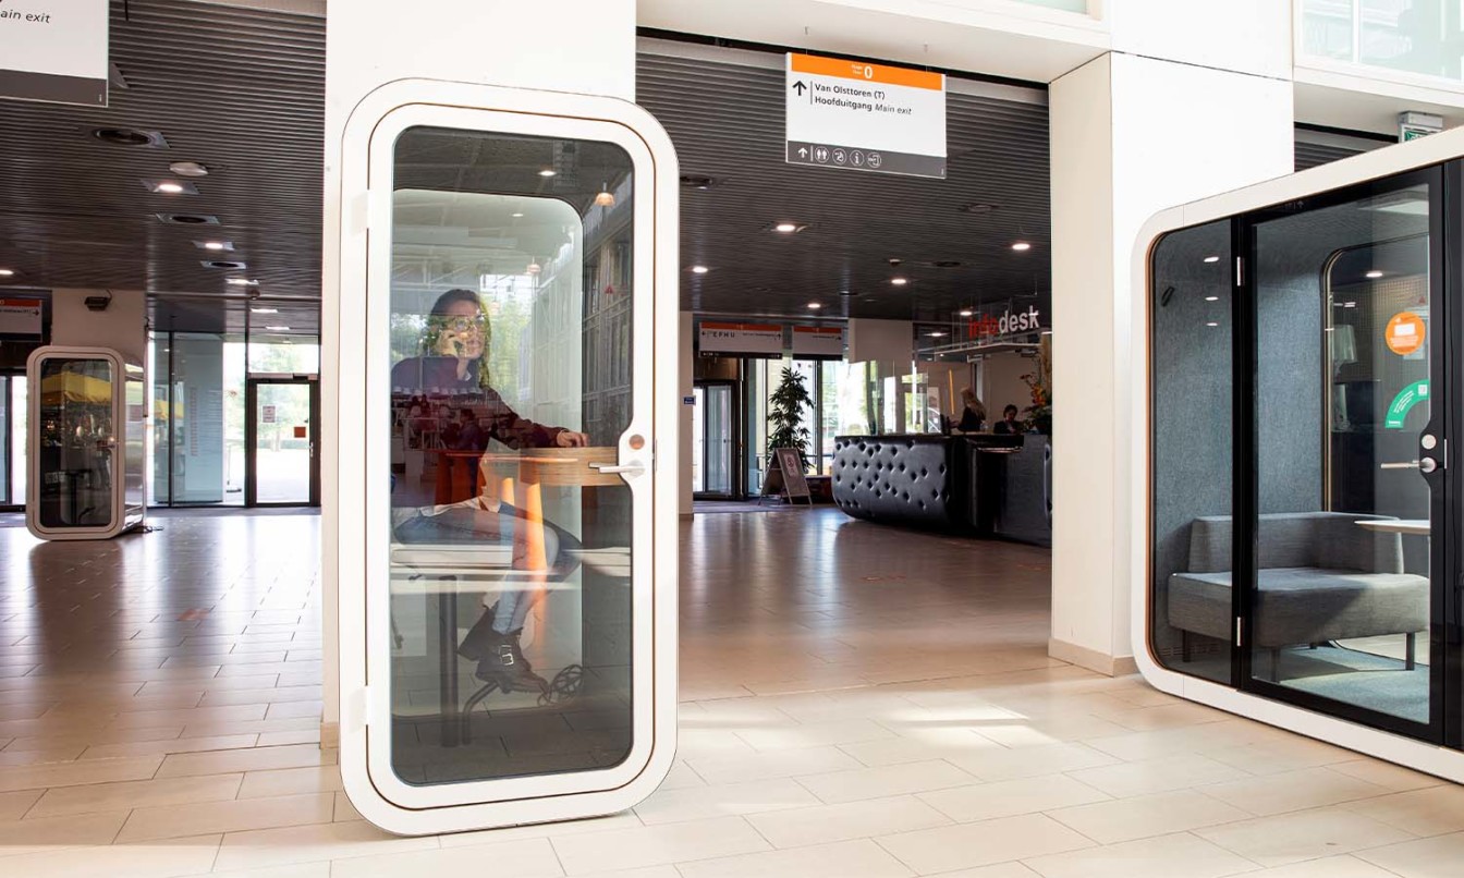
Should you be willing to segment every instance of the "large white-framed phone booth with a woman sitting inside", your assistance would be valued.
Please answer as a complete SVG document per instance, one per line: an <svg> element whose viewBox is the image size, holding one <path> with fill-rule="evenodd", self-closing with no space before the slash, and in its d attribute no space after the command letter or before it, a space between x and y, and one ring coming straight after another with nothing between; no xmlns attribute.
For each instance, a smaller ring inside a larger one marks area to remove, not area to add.
<svg viewBox="0 0 1464 878"><path fill-rule="evenodd" d="M676 735L671 140L400 80L343 157L346 792L403 834L627 809Z"/></svg>

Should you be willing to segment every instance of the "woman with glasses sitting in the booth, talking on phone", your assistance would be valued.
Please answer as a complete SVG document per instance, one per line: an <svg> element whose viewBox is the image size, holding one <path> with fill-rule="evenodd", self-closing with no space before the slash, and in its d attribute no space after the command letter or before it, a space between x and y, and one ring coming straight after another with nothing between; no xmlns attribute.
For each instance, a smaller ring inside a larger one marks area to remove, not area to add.
<svg viewBox="0 0 1464 878"><path fill-rule="evenodd" d="M520 417L504 402L504 398L489 383L488 347L490 326L488 313L471 290L448 290L438 297L427 316L427 348L430 354L410 357L391 370L394 395L444 394L464 405L460 413L461 426L457 443L467 448L464 435L471 433L480 451L489 439L496 439L512 449L520 448L583 448L589 445L584 433L565 427L549 427ZM473 414L471 405L483 411ZM464 417L467 416L467 417ZM419 511L401 522L395 536L407 544L471 544L514 543L512 566L520 568L526 558L520 550L523 540L514 541L518 528L536 527L521 509L489 498L470 498L449 506L435 506ZM543 522L545 559L553 566L559 552L559 536L552 524ZM520 568L523 569L523 568ZM477 661L477 676L485 682L498 683L504 692L537 692L545 686L534 676L520 648L524 620L540 596L540 590L501 591L498 603L486 607L458 644L458 654Z"/></svg>

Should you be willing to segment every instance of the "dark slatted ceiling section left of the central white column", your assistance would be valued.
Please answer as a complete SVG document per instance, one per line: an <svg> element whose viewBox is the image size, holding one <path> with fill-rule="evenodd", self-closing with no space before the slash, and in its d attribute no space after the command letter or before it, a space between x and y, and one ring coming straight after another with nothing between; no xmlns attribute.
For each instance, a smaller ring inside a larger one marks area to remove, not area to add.
<svg viewBox="0 0 1464 878"><path fill-rule="evenodd" d="M111 287L155 296L161 328L242 326L230 275L259 279L281 322L318 326L325 108L325 19L176 0L111 4L114 82L105 110L0 101L0 265L18 284ZM97 127L161 132L167 148L120 146ZM199 161L199 195L165 196L141 179ZM220 225L165 225L164 211ZM223 239L212 255L195 240ZM240 259L244 272L203 268ZM180 294L182 299L174 299ZM274 319L274 318L271 318ZM202 325L199 325L202 323Z"/></svg>

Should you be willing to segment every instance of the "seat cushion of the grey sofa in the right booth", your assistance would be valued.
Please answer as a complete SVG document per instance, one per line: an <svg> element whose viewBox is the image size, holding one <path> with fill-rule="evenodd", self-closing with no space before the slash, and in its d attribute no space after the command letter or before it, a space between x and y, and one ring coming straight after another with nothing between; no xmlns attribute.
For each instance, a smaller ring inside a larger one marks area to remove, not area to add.
<svg viewBox="0 0 1464 878"><path fill-rule="evenodd" d="M1170 623L1228 639L1230 572L1170 577ZM1429 579L1413 574L1363 574L1332 568L1268 568L1259 572L1259 647L1310 644L1429 626Z"/></svg>

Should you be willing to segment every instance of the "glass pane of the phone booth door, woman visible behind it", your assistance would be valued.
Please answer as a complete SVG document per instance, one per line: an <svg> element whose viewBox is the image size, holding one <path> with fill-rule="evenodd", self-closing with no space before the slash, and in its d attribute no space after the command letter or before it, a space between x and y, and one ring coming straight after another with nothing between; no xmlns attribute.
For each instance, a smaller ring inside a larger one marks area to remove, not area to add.
<svg viewBox="0 0 1464 878"><path fill-rule="evenodd" d="M616 765L631 496L596 467L631 417L631 158L417 127L394 177L373 401L392 442L392 768L439 784Z"/></svg>

